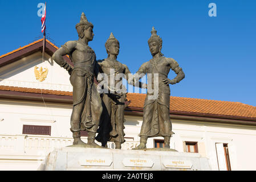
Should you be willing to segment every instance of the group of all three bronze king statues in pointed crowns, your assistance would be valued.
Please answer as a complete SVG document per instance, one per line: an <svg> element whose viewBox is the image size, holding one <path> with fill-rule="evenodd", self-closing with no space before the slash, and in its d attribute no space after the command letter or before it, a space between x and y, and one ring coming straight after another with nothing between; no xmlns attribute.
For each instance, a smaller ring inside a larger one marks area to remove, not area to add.
<svg viewBox="0 0 256 182"><path fill-rule="evenodd" d="M143 110L143 125L139 134L140 144L133 149L146 148L149 137L164 137L164 147L170 148L170 137L174 133L169 117L169 84L176 84L185 77L177 61L162 55L162 39L153 27L151 38L148 40L153 58L141 65L136 72L137 76L152 75L151 85L140 82L138 77L130 79L131 72L127 65L116 60L120 43L112 33L105 43L107 58L96 61L94 50L88 46L88 42L94 38L93 28L94 25L88 22L86 15L82 13L80 22L76 24L79 39L66 42L52 55L52 59L68 71L73 86L70 129L74 138L73 146L104 148L107 147L108 141L113 141L116 149L121 148L121 144L125 142L124 109L129 105L129 101L126 98L125 87L121 85L121 88L117 89L116 84L125 78L128 84L148 88ZM74 67L63 59L64 55L70 56ZM177 74L172 80L168 78L170 69ZM111 85L102 84L103 81L100 79L99 82L96 81L98 75L104 75L108 80L107 83L110 84L111 77L116 78L119 73L123 73L124 76L115 80L114 88ZM97 88L104 88L107 92L100 93ZM149 88L157 89L157 97L152 97ZM88 132L87 144L80 138L82 130ZM96 133L98 133L97 137ZM101 142L101 146L95 143L95 139Z"/></svg>

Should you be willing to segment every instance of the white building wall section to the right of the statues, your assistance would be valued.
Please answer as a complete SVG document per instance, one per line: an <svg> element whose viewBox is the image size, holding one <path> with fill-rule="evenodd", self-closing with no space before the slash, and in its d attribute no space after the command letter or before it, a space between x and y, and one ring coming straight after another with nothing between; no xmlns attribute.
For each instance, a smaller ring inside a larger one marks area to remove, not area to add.
<svg viewBox="0 0 256 182"><path fill-rule="evenodd" d="M220 123L173 121L172 138L176 150L182 151L182 141L198 142L198 152L218 170L216 143L227 143L231 170L255 170L256 127Z"/></svg>

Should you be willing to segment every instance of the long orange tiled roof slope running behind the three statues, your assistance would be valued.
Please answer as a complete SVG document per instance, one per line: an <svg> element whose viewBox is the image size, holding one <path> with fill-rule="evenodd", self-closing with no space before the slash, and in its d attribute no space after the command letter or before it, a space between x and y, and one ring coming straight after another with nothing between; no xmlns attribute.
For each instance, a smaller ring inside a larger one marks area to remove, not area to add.
<svg viewBox="0 0 256 182"><path fill-rule="evenodd" d="M54 94L60 96L72 96L72 92L20 88L16 86L0 86L0 90L10 90L27 93ZM146 94L127 93L127 99L131 101L129 107L143 109ZM213 115L226 115L233 117L256 118L256 107L240 102L204 100L199 98L170 97L170 112L201 113Z"/></svg>

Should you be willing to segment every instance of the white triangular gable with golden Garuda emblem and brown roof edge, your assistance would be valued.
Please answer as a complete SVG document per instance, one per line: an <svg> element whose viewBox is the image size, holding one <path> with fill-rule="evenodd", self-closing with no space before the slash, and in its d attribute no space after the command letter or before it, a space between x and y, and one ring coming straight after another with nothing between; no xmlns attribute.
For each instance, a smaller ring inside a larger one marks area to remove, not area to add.
<svg viewBox="0 0 256 182"><path fill-rule="evenodd" d="M0 56L0 85L72 92L70 75L51 58L58 47L47 40L43 57L42 46L37 41Z"/></svg>

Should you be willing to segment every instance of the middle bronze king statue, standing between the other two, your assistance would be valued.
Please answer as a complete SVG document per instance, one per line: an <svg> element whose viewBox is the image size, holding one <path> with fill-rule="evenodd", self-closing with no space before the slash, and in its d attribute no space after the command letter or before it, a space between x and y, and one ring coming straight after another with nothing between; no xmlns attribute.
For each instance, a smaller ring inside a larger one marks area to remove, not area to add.
<svg viewBox="0 0 256 182"><path fill-rule="evenodd" d="M119 85L119 83L123 83L123 78L125 78L128 81L128 84L140 88L147 87L146 84L141 82L137 83L133 79L129 79L129 74L131 72L127 65L116 60L119 55L119 46L119 41L111 32L105 43L108 57L104 60L97 61L99 72L104 73L107 76L108 85L106 87L111 88L112 92L103 93L103 117L101 117L99 134L97 135L96 140L101 142L102 146L106 146L108 141L115 142L116 149L121 149L121 144L125 142L124 109L129 104L126 99L125 86L123 84ZM117 76L119 74L120 77ZM115 85L113 86L111 86L111 77L119 77L119 79L115 79Z"/></svg>

